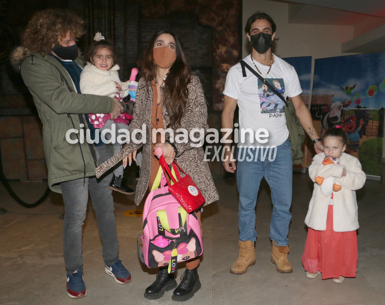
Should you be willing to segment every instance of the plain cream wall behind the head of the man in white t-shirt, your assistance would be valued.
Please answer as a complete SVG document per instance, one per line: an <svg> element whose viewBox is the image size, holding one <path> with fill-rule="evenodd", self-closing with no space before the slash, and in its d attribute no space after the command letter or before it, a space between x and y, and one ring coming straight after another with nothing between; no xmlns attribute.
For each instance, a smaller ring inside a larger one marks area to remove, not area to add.
<svg viewBox="0 0 385 305"><path fill-rule="evenodd" d="M311 83L313 84L314 59L357 53L341 53L341 44L353 39L353 26L288 23L288 3L269 0L243 0L242 2L242 57L251 53L244 27L257 10L267 13L277 25L273 52L279 57L312 56ZM385 142L383 149L385 158Z"/></svg>

